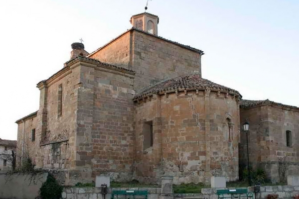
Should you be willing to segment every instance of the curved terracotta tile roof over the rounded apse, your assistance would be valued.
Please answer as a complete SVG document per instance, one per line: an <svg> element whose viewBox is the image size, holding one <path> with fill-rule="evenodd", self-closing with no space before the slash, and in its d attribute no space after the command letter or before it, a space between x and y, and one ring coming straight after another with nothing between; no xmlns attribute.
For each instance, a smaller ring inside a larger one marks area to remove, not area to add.
<svg viewBox="0 0 299 199"><path fill-rule="evenodd" d="M201 78L200 75L194 74L183 75L170 80L159 82L153 86L150 86L149 88L142 90L140 94L135 96L134 100L138 100L157 93L172 93L175 91L183 90L205 90L206 88L210 88L211 91L222 91L242 97L236 90L213 83L209 80Z"/></svg>

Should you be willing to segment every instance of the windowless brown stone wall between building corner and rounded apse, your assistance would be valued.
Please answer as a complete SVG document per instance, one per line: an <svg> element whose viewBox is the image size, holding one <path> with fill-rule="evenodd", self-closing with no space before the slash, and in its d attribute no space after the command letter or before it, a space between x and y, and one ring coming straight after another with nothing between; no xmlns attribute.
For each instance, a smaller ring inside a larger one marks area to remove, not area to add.
<svg viewBox="0 0 299 199"><path fill-rule="evenodd" d="M134 158L133 75L81 66L76 169L113 180L132 178Z"/></svg>

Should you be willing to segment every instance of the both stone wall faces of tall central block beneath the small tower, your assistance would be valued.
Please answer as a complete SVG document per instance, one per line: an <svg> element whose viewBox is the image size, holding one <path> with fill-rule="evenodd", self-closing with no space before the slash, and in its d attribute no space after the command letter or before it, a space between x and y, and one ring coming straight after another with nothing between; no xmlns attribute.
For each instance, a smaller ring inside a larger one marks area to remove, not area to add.
<svg viewBox="0 0 299 199"><path fill-rule="evenodd" d="M160 38L131 30L90 58L136 71L134 89L180 75L201 74L201 55Z"/></svg>

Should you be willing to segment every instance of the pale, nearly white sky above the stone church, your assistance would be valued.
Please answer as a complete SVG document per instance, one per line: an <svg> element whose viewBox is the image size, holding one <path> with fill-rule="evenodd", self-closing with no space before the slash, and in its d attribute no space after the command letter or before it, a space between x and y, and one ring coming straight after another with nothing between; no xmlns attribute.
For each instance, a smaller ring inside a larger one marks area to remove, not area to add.
<svg viewBox="0 0 299 199"><path fill-rule="evenodd" d="M0 0L0 138L38 109L36 84L82 37L92 52L131 28L146 0ZM202 77L247 100L299 106L299 0L152 0L158 35L201 49Z"/></svg>

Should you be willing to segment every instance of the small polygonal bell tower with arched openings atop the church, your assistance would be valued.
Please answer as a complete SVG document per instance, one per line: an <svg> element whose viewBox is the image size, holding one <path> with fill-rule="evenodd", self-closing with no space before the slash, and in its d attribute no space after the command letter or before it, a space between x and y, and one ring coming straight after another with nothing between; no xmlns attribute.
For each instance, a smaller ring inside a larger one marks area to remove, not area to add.
<svg viewBox="0 0 299 199"><path fill-rule="evenodd" d="M159 17L157 15L148 12L135 14L131 17L130 22L135 28L158 35Z"/></svg>

